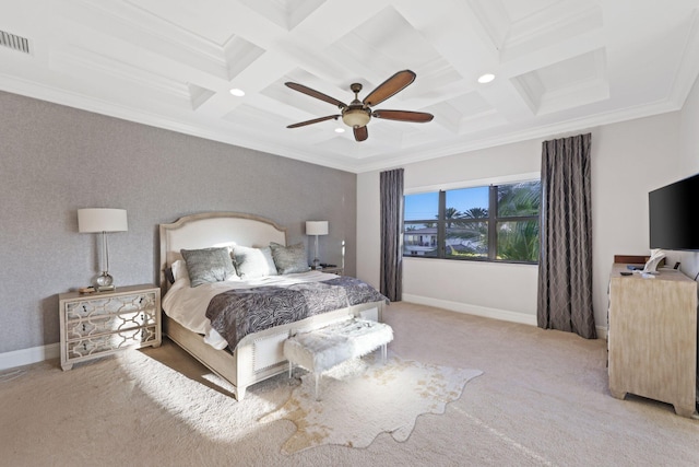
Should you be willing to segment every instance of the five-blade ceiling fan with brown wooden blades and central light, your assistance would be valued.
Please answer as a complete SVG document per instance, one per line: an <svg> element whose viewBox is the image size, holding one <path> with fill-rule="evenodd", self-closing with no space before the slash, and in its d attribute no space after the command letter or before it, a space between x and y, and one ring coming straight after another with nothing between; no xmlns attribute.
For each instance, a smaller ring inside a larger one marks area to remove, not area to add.
<svg viewBox="0 0 699 467"><path fill-rule="evenodd" d="M307 94L311 97L319 98L327 103L336 105L340 108L339 115L329 115L327 117L313 118L312 120L301 121L298 124L289 125L286 128L298 128L304 127L306 125L318 124L320 121L336 120L342 117L342 121L348 127L352 127L354 130L354 139L357 141L364 141L369 137L367 131L367 124L371 119L375 118L383 118L387 120L399 120L399 121L413 121L413 122L427 122L435 118L434 115L427 114L425 112L411 112L411 110L372 110L371 107L378 105L386 101L389 97L394 96L413 81L415 81L415 72L411 70L399 71L393 74L391 78L379 84L374 91L369 93L364 100L359 101L358 94L362 91L362 84L354 83L350 86L352 92L354 93L354 101L350 103L350 105L337 101L334 97L330 97L321 92L316 90L311 90L303 84L287 82L284 83L288 87L298 91L300 93Z"/></svg>

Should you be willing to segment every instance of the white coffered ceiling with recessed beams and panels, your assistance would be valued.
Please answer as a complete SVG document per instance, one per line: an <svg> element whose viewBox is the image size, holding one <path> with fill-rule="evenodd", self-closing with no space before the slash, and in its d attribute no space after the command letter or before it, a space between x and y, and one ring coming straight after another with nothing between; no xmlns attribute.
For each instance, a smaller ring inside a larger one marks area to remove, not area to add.
<svg viewBox="0 0 699 467"><path fill-rule="evenodd" d="M351 172L677 110L699 0L0 0L0 90ZM417 79L356 142L348 104ZM479 84L477 78L494 73ZM245 91L237 97L232 89ZM343 128L342 133L335 129Z"/></svg>

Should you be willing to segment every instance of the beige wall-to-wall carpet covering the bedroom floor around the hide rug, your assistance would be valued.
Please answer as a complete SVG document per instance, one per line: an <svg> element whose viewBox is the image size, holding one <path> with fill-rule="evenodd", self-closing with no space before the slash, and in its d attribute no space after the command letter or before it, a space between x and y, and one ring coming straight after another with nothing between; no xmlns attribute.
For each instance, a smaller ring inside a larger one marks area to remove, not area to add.
<svg viewBox="0 0 699 467"><path fill-rule="evenodd" d="M288 420L259 423L298 385L254 385L242 404L171 343L63 372L57 361L0 373L0 466L697 466L699 420L609 396L603 340L394 303L402 359L478 369L445 413L365 448L281 446ZM248 404L248 401L250 404Z"/></svg>

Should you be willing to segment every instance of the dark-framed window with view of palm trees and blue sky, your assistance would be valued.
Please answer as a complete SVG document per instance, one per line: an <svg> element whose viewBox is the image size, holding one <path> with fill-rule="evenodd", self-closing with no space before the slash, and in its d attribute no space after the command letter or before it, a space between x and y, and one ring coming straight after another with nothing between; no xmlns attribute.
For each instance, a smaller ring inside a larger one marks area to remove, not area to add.
<svg viewBox="0 0 699 467"><path fill-rule="evenodd" d="M405 196L403 256L536 262L541 182Z"/></svg>

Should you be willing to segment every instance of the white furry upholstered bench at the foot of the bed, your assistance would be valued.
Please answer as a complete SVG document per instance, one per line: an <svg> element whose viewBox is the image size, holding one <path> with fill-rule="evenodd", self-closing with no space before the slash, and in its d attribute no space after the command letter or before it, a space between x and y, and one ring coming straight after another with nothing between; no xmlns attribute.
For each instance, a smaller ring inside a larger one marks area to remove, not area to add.
<svg viewBox="0 0 699 467"><path fill-rule="evenodd" d="M393 340L393 329L384 323L348 317L342 322L308 332L297 332L284 341L284 357L288 360L288 375L294 365L301 366L316 376L318 386L324 371L379 347L386 363L386 346Z"/></svg>

